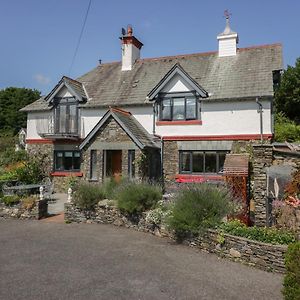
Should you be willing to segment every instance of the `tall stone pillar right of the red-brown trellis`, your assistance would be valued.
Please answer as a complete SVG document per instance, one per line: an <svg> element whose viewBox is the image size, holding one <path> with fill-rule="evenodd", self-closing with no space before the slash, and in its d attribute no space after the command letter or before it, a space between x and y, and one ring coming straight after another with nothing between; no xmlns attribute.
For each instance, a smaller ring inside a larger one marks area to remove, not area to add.
<svg viewBox="0 0 300 300"><path fill-rule="evenodd" d="M253 200L255 204L255 225L267 224L267 172L273 160L271 145L253 145Z"/></svg>

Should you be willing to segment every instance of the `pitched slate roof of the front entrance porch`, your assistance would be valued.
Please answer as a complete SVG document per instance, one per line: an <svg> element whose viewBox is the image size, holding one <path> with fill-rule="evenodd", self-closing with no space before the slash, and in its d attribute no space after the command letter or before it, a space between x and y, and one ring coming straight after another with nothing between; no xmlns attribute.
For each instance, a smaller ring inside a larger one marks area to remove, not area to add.
<svg viewBox="0 0 300 300"><path fill-rule="evenodd" d="M101 129L102 126L105 125L105 123L111 117L120 125L120 127L127 133L127 135L140 149L144 149L146 147L159 148L159 145L156 143L154 137L152 137L145 130L145 128L130 112L119 108L110 108L83 140L83 142L79 146L80 150L91 142L94 135Z"/></svg>

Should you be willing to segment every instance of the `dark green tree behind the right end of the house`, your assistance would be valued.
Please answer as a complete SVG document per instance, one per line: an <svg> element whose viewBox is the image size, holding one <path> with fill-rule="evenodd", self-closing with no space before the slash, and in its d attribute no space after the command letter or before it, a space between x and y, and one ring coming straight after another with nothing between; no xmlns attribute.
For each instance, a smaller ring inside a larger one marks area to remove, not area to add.
<svg viewBox="0 0 300 300"><path fill-rule="evenodd" d="M300 124L300 57L295 67L288 66L284 71L275 91L275 106L277 112Z"/></svg>

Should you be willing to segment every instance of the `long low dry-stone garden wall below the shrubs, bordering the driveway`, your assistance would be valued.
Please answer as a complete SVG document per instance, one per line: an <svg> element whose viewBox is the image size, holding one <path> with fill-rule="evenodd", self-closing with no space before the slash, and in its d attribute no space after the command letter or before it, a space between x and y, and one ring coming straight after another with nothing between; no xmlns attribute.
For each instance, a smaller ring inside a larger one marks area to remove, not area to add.
<svg viewBox="0 0 300 300"><path fill-rule="evenodd" d="M174 239L165 228L147 222L146 213L129 218L121 214L116 207L110 206L108 200L100 201L95 211L88 214L85 214L73 203L66 203L65 221L114 224ZM201 237L186 239L183 243L266 271L282 273L285 271L284 253L287 250L286 246L274 246L229 234L220 235L213 230L209 230Z"/></svg>

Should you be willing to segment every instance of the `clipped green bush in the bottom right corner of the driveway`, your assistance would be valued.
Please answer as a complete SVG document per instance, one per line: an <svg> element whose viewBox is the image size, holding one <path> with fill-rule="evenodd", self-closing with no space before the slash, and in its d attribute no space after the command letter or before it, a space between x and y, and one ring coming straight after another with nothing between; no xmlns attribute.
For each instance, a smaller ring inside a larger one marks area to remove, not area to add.
<svg viewBox="0 0 300 300"><path fill-rule="evenodd" d="M300 242L289 245L285 255L286 275L283 295L286 300L300 299Z"/></svg>

